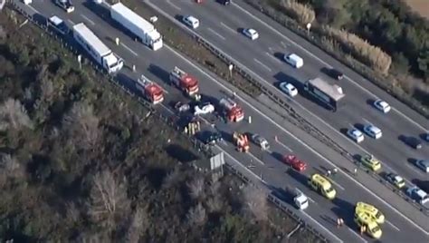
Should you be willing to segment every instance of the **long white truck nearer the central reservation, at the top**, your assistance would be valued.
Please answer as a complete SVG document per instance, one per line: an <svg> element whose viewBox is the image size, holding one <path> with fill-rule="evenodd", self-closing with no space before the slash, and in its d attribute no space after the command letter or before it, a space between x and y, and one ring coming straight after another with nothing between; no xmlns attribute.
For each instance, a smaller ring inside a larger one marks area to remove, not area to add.
<svg viewBox="0 0 429 243"><path fill-rule="evenodd" d="M155 26L134 13L126 5L121 3L111 5L110 16L152 50L157 51L162 47L162 37Z"/></svg>

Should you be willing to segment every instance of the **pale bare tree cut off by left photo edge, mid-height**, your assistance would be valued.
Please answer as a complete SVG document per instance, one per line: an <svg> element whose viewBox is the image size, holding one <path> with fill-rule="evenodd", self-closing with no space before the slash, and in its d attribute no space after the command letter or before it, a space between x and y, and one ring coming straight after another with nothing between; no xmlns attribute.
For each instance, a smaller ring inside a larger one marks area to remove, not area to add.
<svg viewBox="0 0 429 243"><path fill-rule="evenodd" d="M20 101L8 99L0 106L0 130L33 129L33 121Z"/></svg>

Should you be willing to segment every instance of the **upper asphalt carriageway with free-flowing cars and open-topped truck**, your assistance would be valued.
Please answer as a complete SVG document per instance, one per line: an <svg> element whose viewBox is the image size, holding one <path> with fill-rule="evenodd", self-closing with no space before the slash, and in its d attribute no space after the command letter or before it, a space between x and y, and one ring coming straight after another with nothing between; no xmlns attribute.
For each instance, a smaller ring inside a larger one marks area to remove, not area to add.
<svg viewBox="0 0 429 243"><path fill-rule="evenodd" d="M147 2L155 3L153 0ZM409 182L428 179L428 175L413 163L415 160L429 158L429 144L422 141L423 149L415 151L399 140L400 136L418 138L428 131L427 119L372 83L363 80L328 54L306 44L298 36L254 11L242 1L234 1L234 4L228 6L219 5L215 1L205 1L200 5L185 0L160 0L156 3L158 10L176 19L181 15L194 15L200 20L200 26L195 29L195 33L215 44L218 49L229 54L255 77L272 85L277 91L278 84L284 81L294 83L300 92L303 82L318 76L330 83L337 82L346 93L344 107L338 112L329 112L306 95L294 98L292 107L321 131L343 144L352 154L373 154L384 162L385 170L396 171ZM243 28L257 30L259 39L251 41L246 38L240 33ZM304 66L299 70L292 68L282 61L284 53L299 54L304 59ZM346 78L338 82L321 72L323 68L332 66L345 73ZM394 108L392 112L385 115L374 109L371 102L377 97L389 102ZM367 123L374 124L383 131L380 140L366 136L365 141L358 145L346 137L347 129L362 128Z"/></svg>

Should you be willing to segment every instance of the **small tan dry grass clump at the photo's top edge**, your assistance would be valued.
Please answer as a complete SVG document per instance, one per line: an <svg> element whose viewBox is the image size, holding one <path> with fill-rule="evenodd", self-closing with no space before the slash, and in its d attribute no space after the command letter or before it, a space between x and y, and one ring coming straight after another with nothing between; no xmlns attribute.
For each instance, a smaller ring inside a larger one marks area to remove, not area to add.
<svg viewBox="0 0 429 243"><path fill-rule="evenodd" d="M282 0L281 5L294 19L298 20L300 24L309 24L314 21L316 14L309 5L301 5L295 0Z"/></svg>

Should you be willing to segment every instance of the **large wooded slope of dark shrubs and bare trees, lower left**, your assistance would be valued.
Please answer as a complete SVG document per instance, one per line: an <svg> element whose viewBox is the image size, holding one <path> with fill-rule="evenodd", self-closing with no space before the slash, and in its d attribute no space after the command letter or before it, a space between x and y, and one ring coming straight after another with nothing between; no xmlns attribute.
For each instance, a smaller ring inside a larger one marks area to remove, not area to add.
<svg viewBox="0 0 429 243"><path fill-rule="evenodd" d="M283 242L295 228L259 190L194 170L205 158L184 136L24 23L0 15L0 241Z"/></svg>

